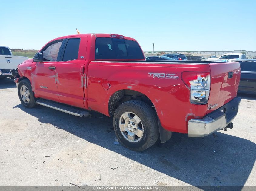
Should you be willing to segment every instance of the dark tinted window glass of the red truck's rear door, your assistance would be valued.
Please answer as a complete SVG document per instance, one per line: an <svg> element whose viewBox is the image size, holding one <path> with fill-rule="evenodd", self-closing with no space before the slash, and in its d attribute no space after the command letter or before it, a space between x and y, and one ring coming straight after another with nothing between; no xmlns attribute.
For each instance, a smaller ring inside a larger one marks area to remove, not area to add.
<svg viewBox="0 0 256 191"><path fill-rule="evenodd" d="M76 60L78 57L79 44L80 44L80 38L68 39L62 60L63 61Z"/></svg>

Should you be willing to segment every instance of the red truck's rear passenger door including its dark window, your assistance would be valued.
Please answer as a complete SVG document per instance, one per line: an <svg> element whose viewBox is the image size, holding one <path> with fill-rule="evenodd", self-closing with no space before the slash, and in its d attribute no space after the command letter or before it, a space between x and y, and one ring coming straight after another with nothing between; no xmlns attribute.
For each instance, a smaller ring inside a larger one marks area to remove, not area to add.
<svg viewBox="0 0 256 191"><path fill-rule="evenodd" d="M65 41L56 65L58 97L60 102L84 108L84 65L86 36L70 37Z"/></svg>

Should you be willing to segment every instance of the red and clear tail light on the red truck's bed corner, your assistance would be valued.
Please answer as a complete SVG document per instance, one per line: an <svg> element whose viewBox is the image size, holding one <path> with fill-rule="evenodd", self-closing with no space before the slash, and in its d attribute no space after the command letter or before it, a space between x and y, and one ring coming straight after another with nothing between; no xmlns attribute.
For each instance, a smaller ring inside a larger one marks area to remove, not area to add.
<svg viewBox="0 0 256 191"><path fill-rule="evenodd" d="M208 103L211 86L209 72L183 72L181 78L190 89L190 103Z"/></svg>

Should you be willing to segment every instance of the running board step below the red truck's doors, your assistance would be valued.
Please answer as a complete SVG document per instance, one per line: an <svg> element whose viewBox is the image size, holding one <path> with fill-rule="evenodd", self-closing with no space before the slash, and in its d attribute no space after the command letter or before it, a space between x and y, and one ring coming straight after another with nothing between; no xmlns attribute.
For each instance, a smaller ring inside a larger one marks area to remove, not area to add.
<svg viewBox="0 0 256 191"><path fill-rule="evenodd" d="M49 101L49 100L37 100L36 101L37 104L42 105L42 106L46 106L46 107L50 107L52 109L55 110L59 110L65 113L69 113L71 115L75 115L78 117L91 117L91 114L87 111L83 111L83 110L78 110L72 107L68 107L65 105L61 105L59 103L53 102L53 101Z"/></svg>

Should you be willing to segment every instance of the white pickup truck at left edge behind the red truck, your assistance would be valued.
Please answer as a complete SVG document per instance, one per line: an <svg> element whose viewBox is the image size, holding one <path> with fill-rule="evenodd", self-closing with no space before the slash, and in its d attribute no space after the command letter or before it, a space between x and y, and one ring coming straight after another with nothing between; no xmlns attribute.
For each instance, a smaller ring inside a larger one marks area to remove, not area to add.
<svg viewBox="0 0 256 191"><path fill-rule="evenodd" d="M0 46L0 79L13 78L10 70L16 69L20 63L27 59L28 57L25 56L12 56L8 46Z"/></svg>

